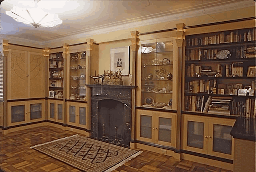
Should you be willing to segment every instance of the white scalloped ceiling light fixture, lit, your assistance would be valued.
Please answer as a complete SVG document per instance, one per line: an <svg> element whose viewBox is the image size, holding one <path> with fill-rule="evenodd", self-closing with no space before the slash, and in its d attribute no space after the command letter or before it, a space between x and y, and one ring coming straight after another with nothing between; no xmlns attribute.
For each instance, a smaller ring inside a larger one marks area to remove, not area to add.
<svg viewBox="0 0 256 172"><path fill-rule="evenodd" d="M22 22L24 24L30 24L35 28L41 27L53 27L62 23L59 19L58 14L44 12L38 7L39 0L34 0L35 8L20 8L13 7L12 10L6 11L8 16L11 16L17 22Z"/></svg>

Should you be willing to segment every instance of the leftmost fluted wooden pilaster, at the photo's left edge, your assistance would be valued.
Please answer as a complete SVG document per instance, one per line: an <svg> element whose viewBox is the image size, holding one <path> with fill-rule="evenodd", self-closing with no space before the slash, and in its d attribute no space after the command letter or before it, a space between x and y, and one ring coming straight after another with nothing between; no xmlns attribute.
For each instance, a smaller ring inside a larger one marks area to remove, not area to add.
<svg viewBox="0 0 256 172"><path fill-rule="evenodd" d="M8 127L8 106L7 106L7 92L8 92L8 87L7 87L7 58L9 54L9 48L8 48L8 40L2 40L1 43L1 53L3 55L3 60L4 60L4 110L3 110L3 127L7 128Z"/></svg>

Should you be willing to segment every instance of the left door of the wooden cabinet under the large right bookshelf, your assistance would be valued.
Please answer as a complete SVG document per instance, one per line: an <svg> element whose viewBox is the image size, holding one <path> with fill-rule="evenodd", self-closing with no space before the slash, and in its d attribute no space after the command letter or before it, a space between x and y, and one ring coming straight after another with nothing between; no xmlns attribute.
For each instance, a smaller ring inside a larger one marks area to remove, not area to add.
<svg viewBox="0 0 256 172"><path fill-rule="evenodd" d="M183 149L207 154L208 119L204 116L184 115Z"/></svg>

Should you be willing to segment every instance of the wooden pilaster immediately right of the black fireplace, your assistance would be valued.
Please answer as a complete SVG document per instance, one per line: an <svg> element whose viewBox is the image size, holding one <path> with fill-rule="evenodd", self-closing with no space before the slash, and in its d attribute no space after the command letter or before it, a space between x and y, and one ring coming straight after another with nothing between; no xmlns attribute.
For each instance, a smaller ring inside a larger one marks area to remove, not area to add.
<svg viewBox="0 0 256 172"><path fill-rule="evenodd" d="M136 80L135 80L135 77L136 77L136 60L137 60L137 57L138 57L138 49L139 49L139 41L140 39L138 38L138 34L140 32L138 31L131 31L131 35L132 35L132 38L131 38L131 42L132 44L130 45L131 46L131 49L132 49L132 85L136 85ZM132 89L132 124L131 124L131 139L132 140L135 140L135 89ZM134 148L135 145L134 143L130 143L130 147L131 148Z"/></svg>

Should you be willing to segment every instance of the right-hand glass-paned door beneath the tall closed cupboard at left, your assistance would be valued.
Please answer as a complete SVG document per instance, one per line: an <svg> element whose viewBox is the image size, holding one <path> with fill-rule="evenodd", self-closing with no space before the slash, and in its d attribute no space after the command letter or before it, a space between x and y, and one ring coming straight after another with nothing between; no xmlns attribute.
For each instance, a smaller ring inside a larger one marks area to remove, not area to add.
<svg viewBox="0 0 256 172"><path fill-rule="evenodd" d="M45 100L28 102L28 122L45 120Z"/></svg>

